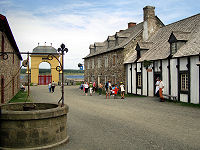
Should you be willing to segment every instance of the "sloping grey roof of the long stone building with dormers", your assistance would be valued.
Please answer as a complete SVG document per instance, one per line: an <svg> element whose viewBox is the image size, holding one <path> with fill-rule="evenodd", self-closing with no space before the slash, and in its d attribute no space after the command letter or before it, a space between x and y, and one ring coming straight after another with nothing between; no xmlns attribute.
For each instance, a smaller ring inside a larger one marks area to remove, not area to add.
<svg viewBox="0 0 200 150"><path fill-rule="evenodd" d="M110 52L110 51L113 51L113 50L125 48L125 46L132 39L137 37L142 32L142 30L143 30L143 22L141 22L141 23L139 23L139 24L137 24L137 25L135 25L133 27L130 27L130 28L126 29L126 30L121 30L120 32L116 32L115 35L108 36L108 38L104 42L101 42L101 46L102 45L103 46L101 48L99 48L99 50L97 50L94 53L91 53L91 54L87 55L84 59L92 57L92 56L96 56L96 55L99 55L99 54L107 53L107 52ZM108 43L108 39L109 40L115 40L115 37L122 37L123 41L121 43L119 43L118 45L116 45L116 46L108 48L108 46L107 46L108 45L107 44Z"/></svg>

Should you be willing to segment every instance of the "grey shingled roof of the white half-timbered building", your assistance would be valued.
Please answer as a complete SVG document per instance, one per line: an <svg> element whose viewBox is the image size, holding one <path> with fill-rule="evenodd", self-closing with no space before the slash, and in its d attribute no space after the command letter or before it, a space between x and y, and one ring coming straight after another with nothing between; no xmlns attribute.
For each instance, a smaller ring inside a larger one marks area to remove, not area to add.
<svg viewBox="0 0 200 150"><path fill-rule="evenodd" d="M200 14L164 26L149 38L148 42L152 42L153 44L149 46L149 50L139 59L139 62L166 59L170 55L170 43L168 40L172 33L177 40L187 40L186 44L174 54L174 57L199 54L199 32Z"/></svg>

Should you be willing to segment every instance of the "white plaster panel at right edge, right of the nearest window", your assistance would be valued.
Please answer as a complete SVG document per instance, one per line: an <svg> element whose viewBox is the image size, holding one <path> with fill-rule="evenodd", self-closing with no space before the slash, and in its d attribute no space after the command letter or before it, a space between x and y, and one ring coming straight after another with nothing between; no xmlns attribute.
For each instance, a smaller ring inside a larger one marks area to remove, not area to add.
<svg viewBox="0 0 200 150"><path fill-rule="evenodd" d="M199 67L196 65L199 62L199 56L190 57L190 99L191 103L199 104Z"/></svg>

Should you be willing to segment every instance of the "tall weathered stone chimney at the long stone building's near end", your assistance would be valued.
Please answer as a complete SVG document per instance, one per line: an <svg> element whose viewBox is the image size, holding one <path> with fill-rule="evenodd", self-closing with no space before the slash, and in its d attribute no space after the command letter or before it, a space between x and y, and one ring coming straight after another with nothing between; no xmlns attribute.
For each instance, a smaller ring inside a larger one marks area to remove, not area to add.
<svg viewBox="0 0 200 150"><path fill-rule="evenodd" d="M143 8L143 40L146 41L156 30L160 28L160 24L155 16L155 7L146 6Z"/></svg>

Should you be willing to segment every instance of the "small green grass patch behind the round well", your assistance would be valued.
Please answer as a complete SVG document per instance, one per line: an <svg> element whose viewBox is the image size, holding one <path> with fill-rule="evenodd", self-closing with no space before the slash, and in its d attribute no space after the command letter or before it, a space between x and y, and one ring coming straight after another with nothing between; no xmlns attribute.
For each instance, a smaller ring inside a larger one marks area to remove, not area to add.
<svg viewBox="0 0 200 150"><path fill-rule="evenodd" d="M27 91L19 91L10 101L9 103L18 103L18 102L31 102L31 100L27 99Z"/></svg>

